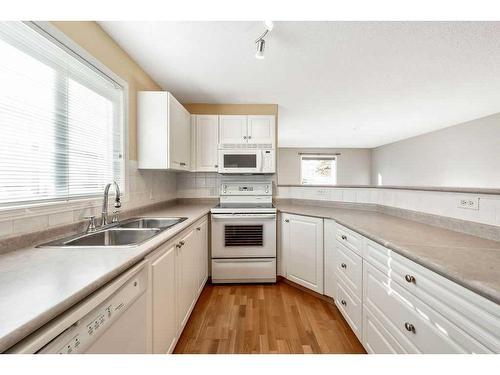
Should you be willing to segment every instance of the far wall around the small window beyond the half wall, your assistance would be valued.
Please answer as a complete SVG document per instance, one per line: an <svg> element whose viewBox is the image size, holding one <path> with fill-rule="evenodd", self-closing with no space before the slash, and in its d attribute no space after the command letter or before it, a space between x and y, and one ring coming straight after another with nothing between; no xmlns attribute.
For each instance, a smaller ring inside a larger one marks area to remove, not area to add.
<svg viewBox="0 0 500 375"><path fill-rule="evenodd" d="M340 153L337 183L370 184L371 150L367 148L280 148L278 185L300 185L300 152Z"/></svg>

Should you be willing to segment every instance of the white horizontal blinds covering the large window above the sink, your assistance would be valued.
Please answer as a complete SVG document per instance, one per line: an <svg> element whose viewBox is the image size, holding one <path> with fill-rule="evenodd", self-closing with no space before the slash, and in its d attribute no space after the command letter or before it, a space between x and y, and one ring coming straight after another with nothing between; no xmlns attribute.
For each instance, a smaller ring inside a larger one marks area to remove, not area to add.
<svg viewBox="0 0 500 375"><path fill-rule="evenodd" d="M124 182L123 87L35 25L0 22L0 206Z"/></svg>

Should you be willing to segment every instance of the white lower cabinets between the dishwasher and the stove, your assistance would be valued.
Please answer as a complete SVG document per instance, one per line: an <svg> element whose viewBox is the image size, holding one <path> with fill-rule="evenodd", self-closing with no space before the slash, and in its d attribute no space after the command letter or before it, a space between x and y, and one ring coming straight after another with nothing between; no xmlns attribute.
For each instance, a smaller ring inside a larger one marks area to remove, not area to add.
<svg viewBox="0 0 500 375"><path fill-rule="evenodd" d="M171 353L208 278L208 221L201 219L148 257L153 353Z"/></svg>

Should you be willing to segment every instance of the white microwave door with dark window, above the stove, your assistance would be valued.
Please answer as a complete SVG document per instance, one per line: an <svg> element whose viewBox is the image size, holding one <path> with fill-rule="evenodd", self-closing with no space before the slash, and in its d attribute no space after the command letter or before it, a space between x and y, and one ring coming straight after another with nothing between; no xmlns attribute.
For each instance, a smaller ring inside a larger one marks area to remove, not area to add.
<svg viewBox="0 0 500 375"><path fill-rule="evenodd" d="M261 150L219 150L219 173L261 172Z"/></svg>

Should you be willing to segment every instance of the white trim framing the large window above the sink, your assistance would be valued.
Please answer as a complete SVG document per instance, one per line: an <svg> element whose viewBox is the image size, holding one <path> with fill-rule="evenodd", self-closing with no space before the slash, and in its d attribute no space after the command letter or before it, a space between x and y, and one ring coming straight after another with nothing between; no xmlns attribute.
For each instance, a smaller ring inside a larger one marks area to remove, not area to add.
<svg viewBox="0 0 500 375"><path fill-rule="evenodd" d="M123 183L120 185L122 193L122 202L128 202L130 197L129 184L129 84L123 78L111 71L106 65L97 60L87 50L77 44L74 40L64 34L56 26L48 21L22 21L26 26L35 32L42 34L52 43L58 45L65 52L74 58L82 61L96 73L106 76L110 81L121 86L123 89L122 98L122 157L123 157ZM111 181L110 181L111 182ZM17 215L26 215L26 213L42 215L61 212L66 210L82 209L97 206L101 203L98 195L75 197L72 199L55 199L50 201L29 201L24 203L0 207L0 219L12 218Z"/></svg>

